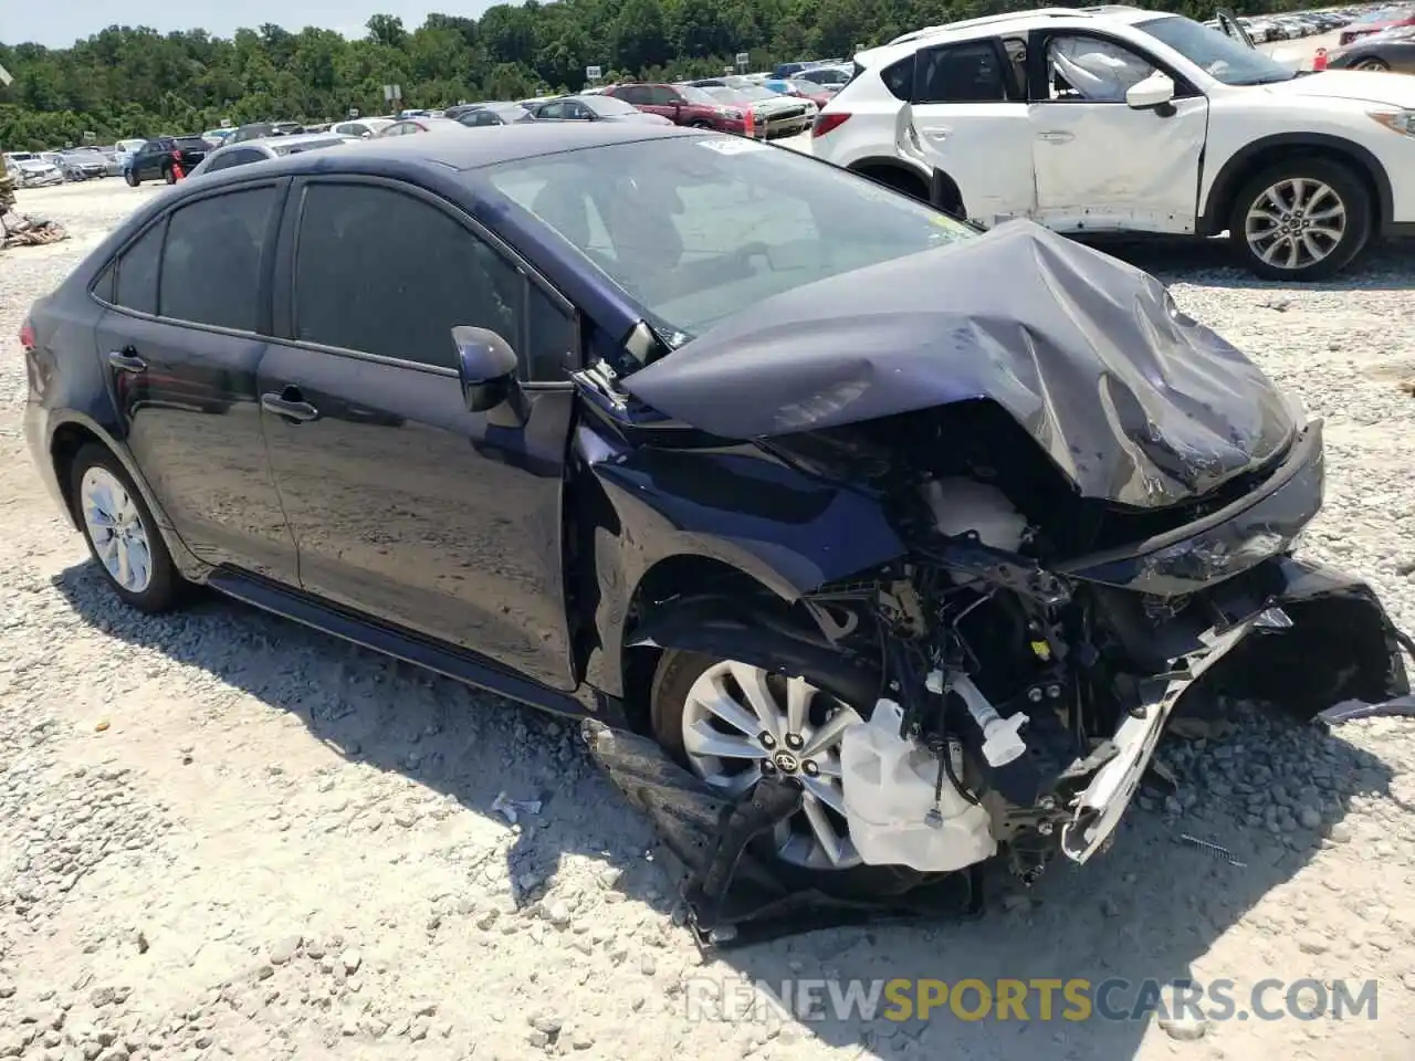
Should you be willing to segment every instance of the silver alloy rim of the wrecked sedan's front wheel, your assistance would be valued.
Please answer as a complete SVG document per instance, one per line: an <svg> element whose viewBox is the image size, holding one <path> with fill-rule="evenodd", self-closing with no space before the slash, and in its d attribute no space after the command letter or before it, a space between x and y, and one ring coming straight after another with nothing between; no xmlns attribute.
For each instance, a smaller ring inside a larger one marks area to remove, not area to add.
<svg viewBox="0 0 1415 1061"><path fill-rule="evenodd" d="M688 690L683 751L698 777L732 795L766 775L797 781L802 808L777 826L777 856L802 869L843 870L860 856L845 823L841 738L859 721L804 678L715 663Z"/></svg>

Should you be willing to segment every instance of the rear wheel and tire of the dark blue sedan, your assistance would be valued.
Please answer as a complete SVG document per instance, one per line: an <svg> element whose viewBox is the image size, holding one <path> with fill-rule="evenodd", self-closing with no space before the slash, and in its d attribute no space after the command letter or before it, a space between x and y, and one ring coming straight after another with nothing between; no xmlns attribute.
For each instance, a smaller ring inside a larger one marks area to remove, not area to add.
<svg viewBox="0 0 1415 1061"><path fill-rule="evenodd" d="M117 457L92 443L81 448L69 470L69 498L89 555L113 593L149 614L181 601L187 584Z"/></svg>

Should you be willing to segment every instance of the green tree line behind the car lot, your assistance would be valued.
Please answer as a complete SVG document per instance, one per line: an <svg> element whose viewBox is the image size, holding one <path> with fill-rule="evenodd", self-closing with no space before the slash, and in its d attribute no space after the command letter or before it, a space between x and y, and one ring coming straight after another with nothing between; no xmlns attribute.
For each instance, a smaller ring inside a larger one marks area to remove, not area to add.
<svg viewBox="0 0 1415 1061"><path fill-rule="evenodd" d="M200 132L222 119L333 120L351 108L386 110L383 85L403 106L522 99L607 78L678 79L720 74L739 52L751 68L812 57L849 57L910 30L1006 10L1016 0L559 0L497 4L480 18L432 14L417 28L376 14L368 35L317 27L161 34L110 25L72 48L0 44L0 146L40 150ZM1235 3L1238 11L1296 8L1302 0ZM1213 17L1204 0L1163 4Z"/></svg>

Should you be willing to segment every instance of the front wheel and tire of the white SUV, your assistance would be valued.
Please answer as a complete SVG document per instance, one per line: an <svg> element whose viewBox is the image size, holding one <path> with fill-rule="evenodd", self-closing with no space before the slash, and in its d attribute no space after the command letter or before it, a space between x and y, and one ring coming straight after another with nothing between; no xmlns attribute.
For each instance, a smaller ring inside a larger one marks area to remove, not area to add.
<svg viewBox="0 0 1415 1061"><path fill-rule="evenodd" d="M1248 269L1265 280L1326 280L1365 249L1373 205L1351 167L1292 158L1238 191L1228 236Z"/></svg>

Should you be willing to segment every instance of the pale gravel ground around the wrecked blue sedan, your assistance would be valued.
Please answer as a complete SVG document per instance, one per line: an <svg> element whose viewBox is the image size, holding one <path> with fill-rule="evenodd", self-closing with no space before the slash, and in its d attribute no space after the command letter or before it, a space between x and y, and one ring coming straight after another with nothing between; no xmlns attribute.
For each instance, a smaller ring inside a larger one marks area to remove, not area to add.
<svg viewBox="0 0 1415 1061"><path fill-rule="evenodd" d="M1166 751L1177 792L1146 796L1104 860L979 921L703 965L649 830L560 724L233 603L123 610L24 454L14 335L156 191L21 192L74 239L0 253L0 1058L1412 1055L1408 724L1323 737L1240 716ZM1132 257L1327 417L1306 550L1371 579L1415 630L1408 249L1300 290L1211 246ZM499 794L542 806L511 825ZM696 978L791 976L1373 978L1380 993L1375 1023L713 1023L685 1003Z"/></svg>

